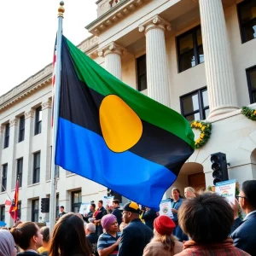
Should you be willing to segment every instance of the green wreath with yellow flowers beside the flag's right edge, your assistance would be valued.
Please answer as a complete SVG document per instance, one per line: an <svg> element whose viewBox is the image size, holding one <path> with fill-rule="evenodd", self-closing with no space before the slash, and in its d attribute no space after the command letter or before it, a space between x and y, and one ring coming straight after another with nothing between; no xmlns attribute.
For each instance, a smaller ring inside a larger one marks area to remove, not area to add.
<svg viewBox="0 0 256 256"><path fill-rule="evenodd" d="M201 148L204 146L208 139L211 137L212 124L202 121L193 121L190 123L192 129L201 131L200 137L195 141L195 148Z"/></svg>

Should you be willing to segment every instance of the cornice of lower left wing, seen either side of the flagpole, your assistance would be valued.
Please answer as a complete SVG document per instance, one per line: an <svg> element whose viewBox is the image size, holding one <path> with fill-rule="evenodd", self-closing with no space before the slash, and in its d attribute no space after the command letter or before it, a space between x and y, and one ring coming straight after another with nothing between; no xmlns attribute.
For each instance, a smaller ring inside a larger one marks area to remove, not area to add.
<svg viewBox="0 0 256 256"><path fill-rule="evenodd" d="M90 52L92 49L97 48L98 38L91 36L86 38L83 42L78 45L84 53ZM15 86L12 90L9 90L3 96L0 96L0 113L14 105L17 102L24 100L27 96L32 95L37 90L40 90L44 86L51 84L53 67L50 63L38 73L34 74L29 79L26 79L23 83Z"/></svg>

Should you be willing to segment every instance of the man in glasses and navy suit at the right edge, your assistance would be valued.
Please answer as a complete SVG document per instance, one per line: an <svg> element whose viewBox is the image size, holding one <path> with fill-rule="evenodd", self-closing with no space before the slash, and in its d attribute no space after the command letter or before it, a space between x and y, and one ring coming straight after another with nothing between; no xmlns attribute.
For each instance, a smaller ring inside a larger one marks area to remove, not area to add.
<svg viewBox="0 0 256 256"><path fill-rule="evenodd" d="M235 222L238 219L239 205L247 215L243 221L238 219L237 229L231 234L237 248L256 255L256 180L247 180L241 185L238 201L232 205Z"/></svg>

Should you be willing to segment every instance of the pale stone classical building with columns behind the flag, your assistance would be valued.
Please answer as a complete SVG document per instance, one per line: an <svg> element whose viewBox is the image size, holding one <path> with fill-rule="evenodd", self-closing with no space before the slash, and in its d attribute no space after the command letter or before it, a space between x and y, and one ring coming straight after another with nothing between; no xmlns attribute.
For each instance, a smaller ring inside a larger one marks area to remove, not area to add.
<svg viewBox="0 0 256 256"><path fill-rule="evenodd" d="M241 114L256 102L256 0L98 0L92 34L79 48L125 84L182 113L207 119L212 137L196 149L174 185L212 185L211 154L222 152L229 177L256 178L256 123ZM65 25L64 25L65 26ZM68 35L66 35L68 38ZM49 219L51 64L0 97L1 181L20 217ZM198 136L198 135L196 135ZM135 177L136 178L136 177ZM1 188L0 219L11 224ZM60 170L57 206L77 211L107 189ZM170 191L167 191L168 196ZM57 214L56 209L56 214Z"/></svg>

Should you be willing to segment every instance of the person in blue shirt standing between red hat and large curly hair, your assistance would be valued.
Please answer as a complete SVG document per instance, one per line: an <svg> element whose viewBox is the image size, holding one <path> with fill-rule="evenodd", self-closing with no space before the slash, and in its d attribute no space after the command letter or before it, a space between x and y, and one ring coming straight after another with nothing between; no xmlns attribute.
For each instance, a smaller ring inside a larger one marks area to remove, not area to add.
<svg viewBox="0 0 256 256"><path fill-rule="evenodd" d="M178 225L178 220L177 220L177 212L179 207L181 206L183 199L180 196L180 190L177 188L172 189L172 214L173 218L172 220L174 221L176 228L173 230L173 236L176 236L179 241L187 241L189 240L188 236L183 234L183 230L181 230L180 226Z"/></svg>

